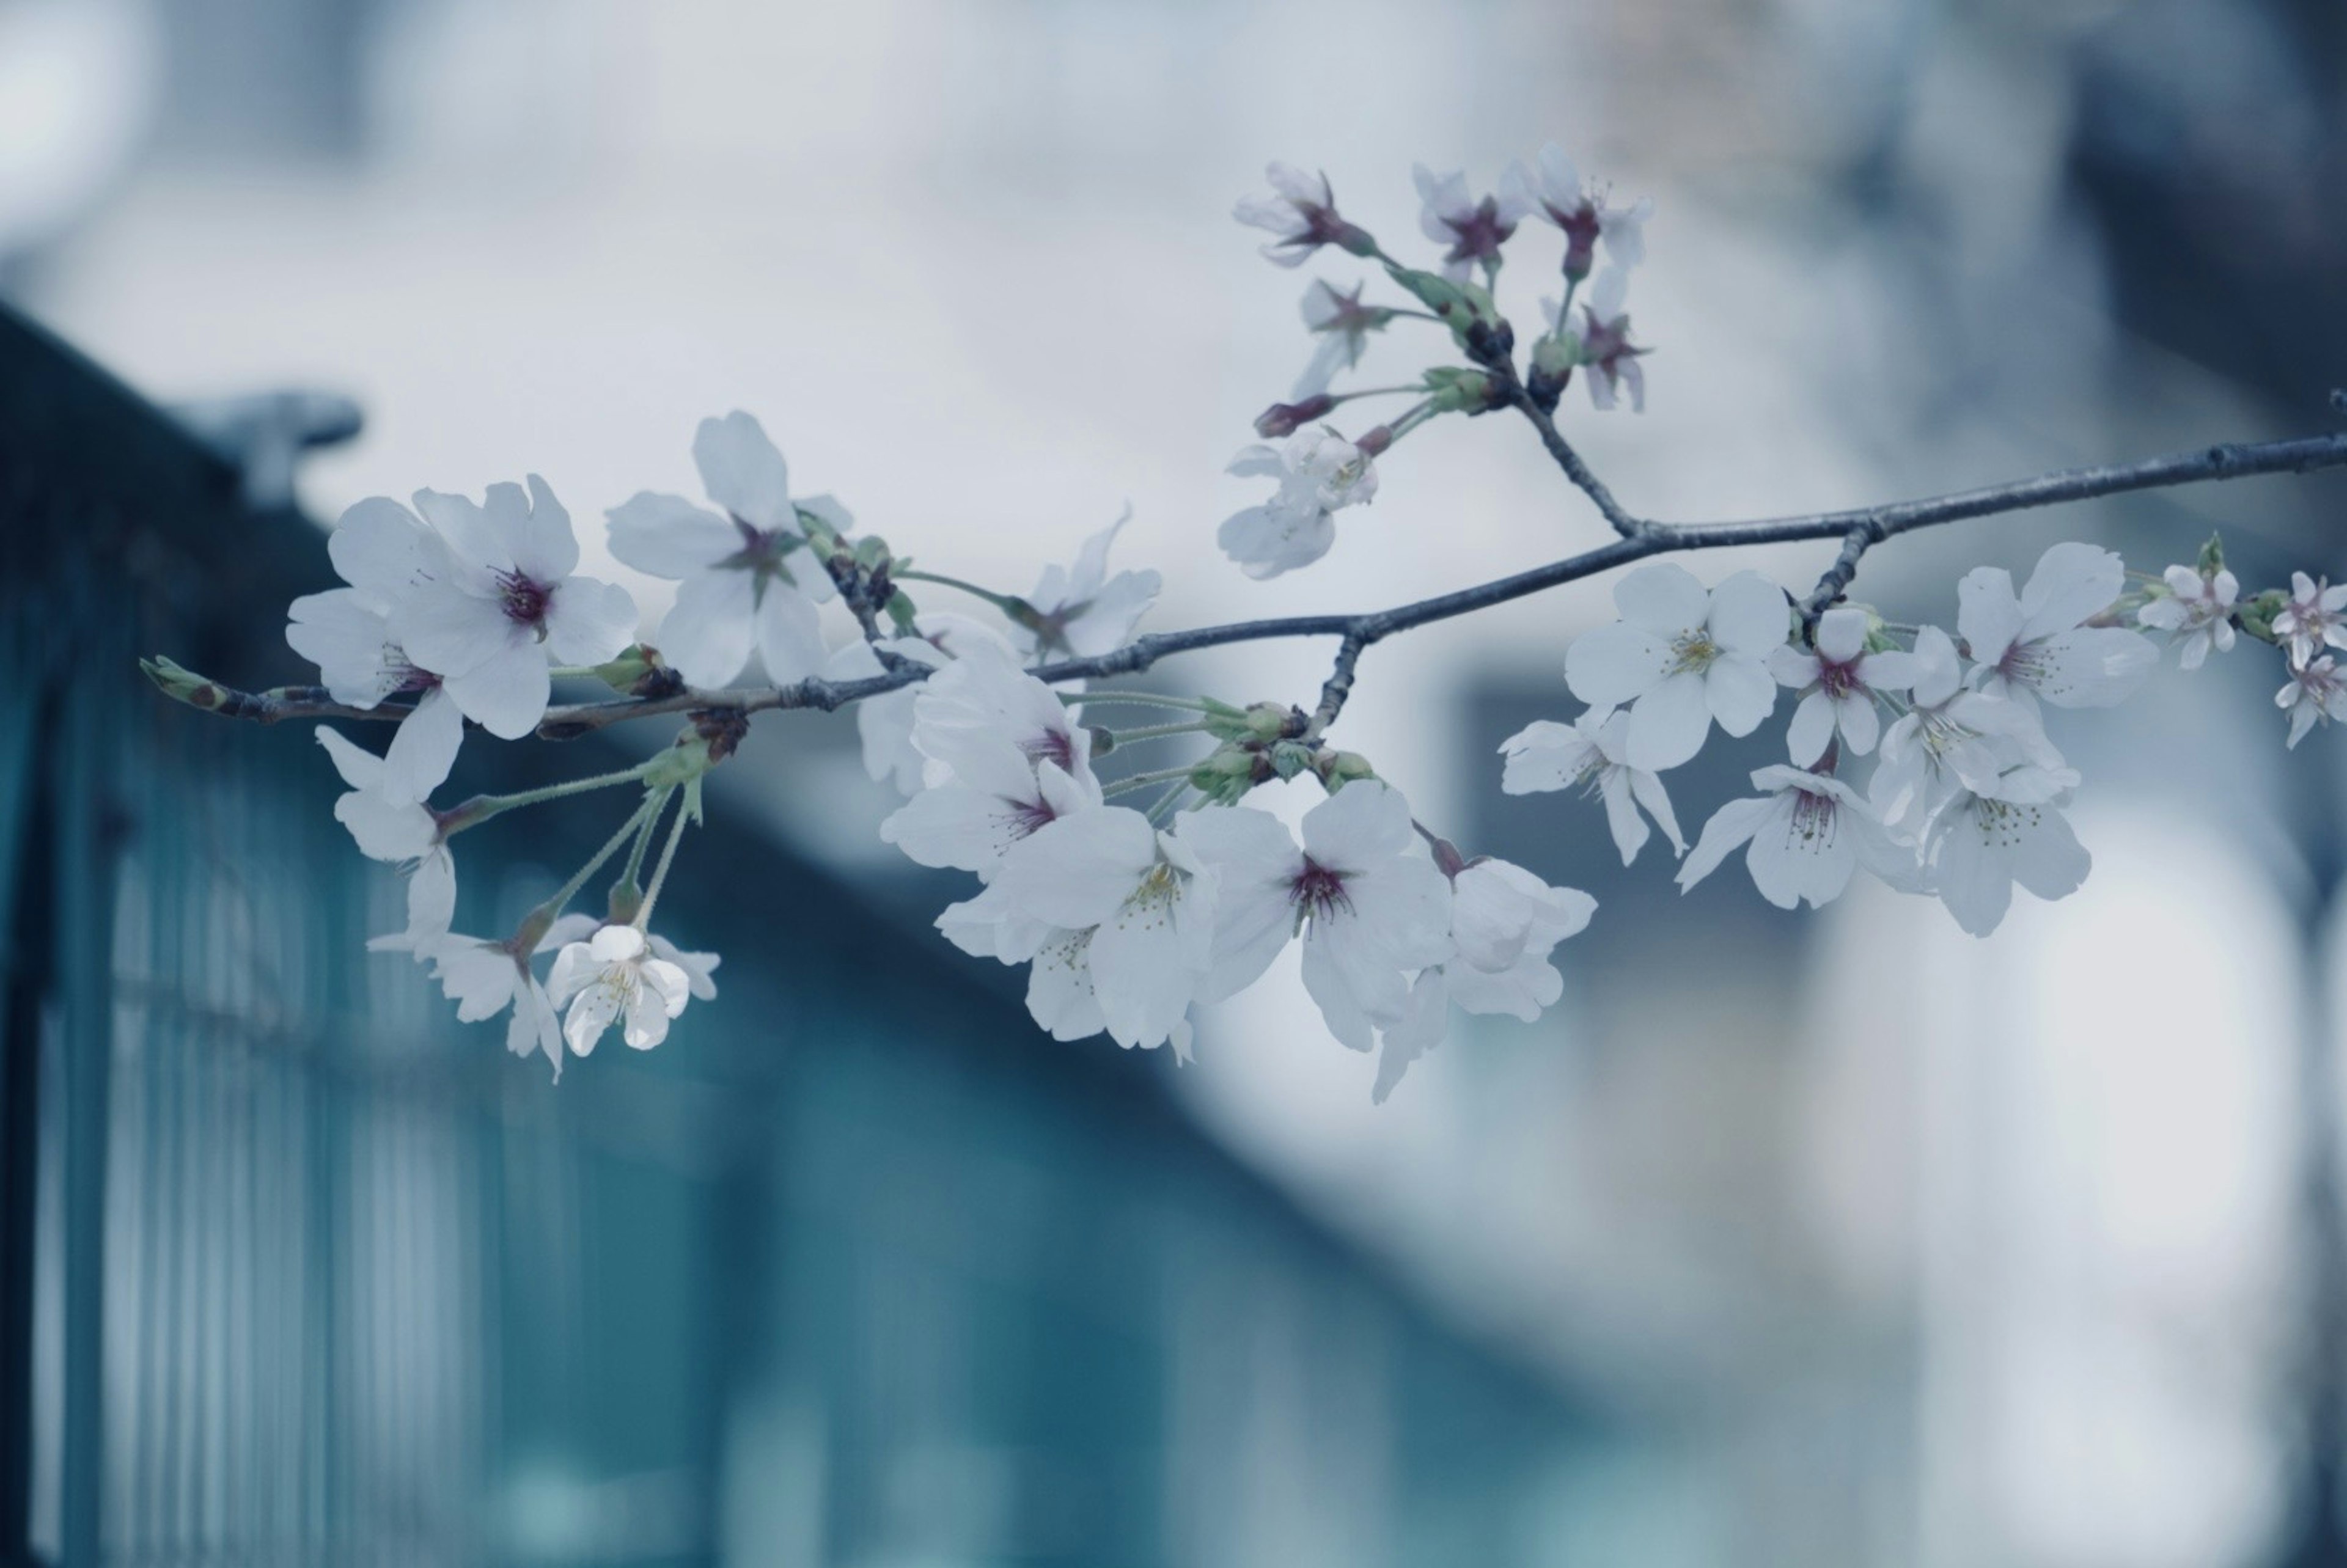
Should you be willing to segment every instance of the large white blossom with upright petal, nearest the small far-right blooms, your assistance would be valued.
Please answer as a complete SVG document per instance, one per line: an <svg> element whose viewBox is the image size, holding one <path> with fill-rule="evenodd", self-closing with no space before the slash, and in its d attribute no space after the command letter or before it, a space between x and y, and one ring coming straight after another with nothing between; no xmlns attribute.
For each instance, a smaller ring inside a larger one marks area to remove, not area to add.
<svg viewBox="0 0 2347 1568"><path fill-rule="evenodd" d="M2021 594L2002 566L1955 584L1955 629L1974 657L1971 683L1997 697L2101 709L2126 699L2159 664L2140 631L2089 627L2126 587L2126 566L2096 545L2054 545Z"/></svg>

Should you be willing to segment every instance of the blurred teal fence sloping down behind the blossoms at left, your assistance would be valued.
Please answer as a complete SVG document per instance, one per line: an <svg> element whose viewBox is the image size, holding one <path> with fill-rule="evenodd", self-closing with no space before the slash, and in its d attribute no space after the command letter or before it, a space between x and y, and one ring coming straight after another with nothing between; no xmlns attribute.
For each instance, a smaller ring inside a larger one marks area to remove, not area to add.
<svg viewBox="0 0 2347 1568"><path fill-rule="evenodd" d="M0 538L0 1561L1544 1561L1582 1415L756 833L662 904L721 1002L559 1087L368 958L307 728L134 669L296 678L319 533L9 317Z"/></svg>

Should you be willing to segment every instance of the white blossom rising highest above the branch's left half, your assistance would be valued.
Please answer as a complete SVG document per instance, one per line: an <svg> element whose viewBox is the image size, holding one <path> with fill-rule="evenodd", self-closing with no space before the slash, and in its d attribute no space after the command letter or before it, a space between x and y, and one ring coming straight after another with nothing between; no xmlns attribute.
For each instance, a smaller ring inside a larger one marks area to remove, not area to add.
<svg viewBox="0 0 2347 1568"><path fill-rule="evenodd" d="M660 655L699 688L737 681L751 650L775 683L821 674L828 653L814 606L833 589L800 512L847 533L845 509L828 495L791 500L789 462L739 411L702 420L692 462L718 512L643 491L606 514L610 554L678 584L655 636Z"/></svg>

